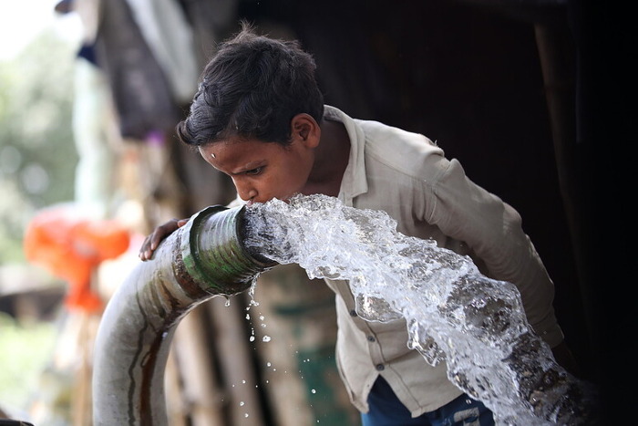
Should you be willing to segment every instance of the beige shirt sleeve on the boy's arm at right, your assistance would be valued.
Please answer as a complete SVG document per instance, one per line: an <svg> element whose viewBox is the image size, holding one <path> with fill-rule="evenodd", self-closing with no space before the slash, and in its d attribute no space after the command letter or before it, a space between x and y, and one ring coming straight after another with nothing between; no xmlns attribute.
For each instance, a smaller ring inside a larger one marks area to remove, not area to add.
<svg viewBox="0 0 638 426"><path fill-rule="evenodd" d="M530 326L551 347L563 334L552 306L554 286L520 214L498 196L471 182L457 160L437 160L438 175L427 185L431 200L426 220L446 235L468 244L490 278L508 281L520 291Z"/></svg>

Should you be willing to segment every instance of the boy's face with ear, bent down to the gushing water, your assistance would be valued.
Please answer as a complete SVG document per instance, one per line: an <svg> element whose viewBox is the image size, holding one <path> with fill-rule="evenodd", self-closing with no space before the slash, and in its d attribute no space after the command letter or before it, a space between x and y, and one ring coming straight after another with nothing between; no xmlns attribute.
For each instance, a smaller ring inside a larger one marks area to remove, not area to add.
<svg viewBox="0 0 638 426"><path fill-rule="evenodd" d="M232 178L239 196L249 205L303 193L314 162L313 147L296 138L284 147L234 137L199 150L212 167Z"/></svg>

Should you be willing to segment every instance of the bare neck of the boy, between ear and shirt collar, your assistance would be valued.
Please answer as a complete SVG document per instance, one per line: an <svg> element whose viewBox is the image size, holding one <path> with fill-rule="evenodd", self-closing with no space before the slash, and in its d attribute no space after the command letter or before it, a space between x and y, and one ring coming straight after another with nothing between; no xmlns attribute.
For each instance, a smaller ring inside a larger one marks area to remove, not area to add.
<svg viewBox="0 0 638 426"><path fill-rule="evenodd" d="M343 123L324 119L321 139L314 150L314 166L304 193L337 196L350 158L350 139Z"/></svg>

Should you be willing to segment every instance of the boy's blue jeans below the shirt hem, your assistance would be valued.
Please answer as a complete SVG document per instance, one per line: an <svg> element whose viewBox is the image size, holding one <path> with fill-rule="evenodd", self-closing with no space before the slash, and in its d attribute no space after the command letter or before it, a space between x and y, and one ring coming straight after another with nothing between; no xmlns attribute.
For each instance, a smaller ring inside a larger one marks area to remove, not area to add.
<svg viewBox="0 0 638 426"><path fill-rule="evenodd" d="M361 414L363 426L492 426L492 412L478 400L463 394L438 410L425 412L416 418L396 398L395 392L381 376L368 396L370 410Z"/></svg>

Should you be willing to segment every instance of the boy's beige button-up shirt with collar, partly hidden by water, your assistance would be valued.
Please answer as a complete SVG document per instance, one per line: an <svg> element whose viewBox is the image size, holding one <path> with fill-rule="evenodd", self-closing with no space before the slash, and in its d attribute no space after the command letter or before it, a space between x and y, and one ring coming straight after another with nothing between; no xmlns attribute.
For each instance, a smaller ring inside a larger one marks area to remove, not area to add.
<svg viewBox="0 0 638 426"><path fill-rule="evenodd" d="M470 255L484 275L519 288L535 332L551 347L563 338L552 307L553 284L520 215L496 195L471 182L457 160L426 137L376 121L351 119L326 106L325 119L340 121L351 142L339 199L359 209L383 210L402 234L432 238L441 247ZM350 398L367 411L367 395L380 374L416 417L462 393L446 364L431 367L407 348L406 322L368 322L355 313L344 281L326 283L336 294L336 359Z"/></svg>

